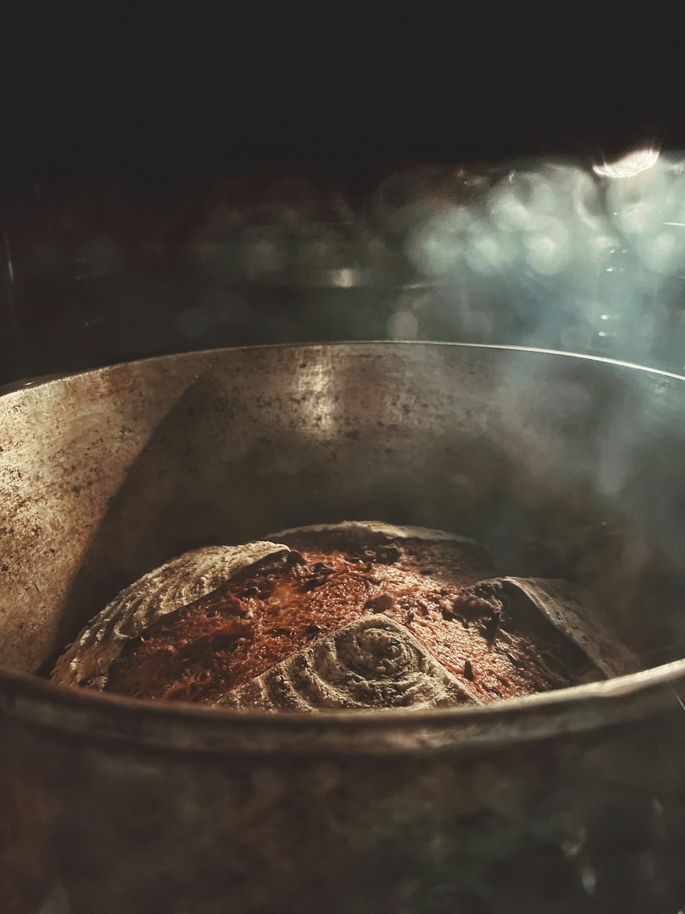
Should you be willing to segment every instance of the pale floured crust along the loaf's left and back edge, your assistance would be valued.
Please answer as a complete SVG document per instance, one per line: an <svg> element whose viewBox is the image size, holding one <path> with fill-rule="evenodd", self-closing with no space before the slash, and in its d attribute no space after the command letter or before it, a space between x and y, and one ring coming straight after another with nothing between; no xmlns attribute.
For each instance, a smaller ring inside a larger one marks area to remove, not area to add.
<svg viewBox="0 0 685 914"><path fill-rule="evenodd" d="M420 540L428 543L458 542L480 546L475 540L444 530L420 526L393 526L378 521L343 521L292 527L241 546L208 546L185 552L142 575L121 590L79 632L62 654L50 675L58 685L83 685L102 689L107 685L111 664L132 642L170 612L208 596L237 574L267 558L290 552L279 537L300 533L339 532L352 543L369 534L380 540ZM485 551L485 547L481 547Z"/></svg>

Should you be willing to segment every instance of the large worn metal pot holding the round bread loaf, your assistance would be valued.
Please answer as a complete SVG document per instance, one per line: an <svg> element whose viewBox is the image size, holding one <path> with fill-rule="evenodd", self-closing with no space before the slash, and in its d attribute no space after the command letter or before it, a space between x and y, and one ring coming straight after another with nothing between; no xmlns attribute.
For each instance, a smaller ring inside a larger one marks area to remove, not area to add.
<svg viewBox="0 0 685 914"><path fill-rule="evenodd" d="M19 389L0 429L3 910L685 900L685 378L496 346L248 348ZM34 675L184 549L350 518L583 579L646 667L670 662L476 710L315 717Z"/></svg>

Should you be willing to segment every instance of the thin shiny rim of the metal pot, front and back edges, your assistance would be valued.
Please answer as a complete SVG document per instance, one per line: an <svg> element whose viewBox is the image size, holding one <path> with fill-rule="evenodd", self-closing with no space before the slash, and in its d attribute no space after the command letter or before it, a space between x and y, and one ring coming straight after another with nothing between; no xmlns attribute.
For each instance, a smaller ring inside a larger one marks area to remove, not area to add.
<svg viewBox="0 0 685 914"><path fill-rule="evenodd" d="M351 343L234 346L171 356L153 356L118 365L92 368L63 376L18 382L0 394L11 396L27 388L72 377L101 375L132 364L163 363L169 359L269 349L364 349L370 346L460 346L584 359L615 367L638 369L649 375L685 382L685 377L603 356L586 356L532 346L368 341ZM148 747L182 751L246 754L364 753L395 754L506 745L531 739L614 726L660 714L685 713L685 659L638 673L588 685L510 698L481 707L325 711L316 715L286 712L277 715L214 708L185 702L155 702L79 687L54 685L32 674L0 669L0 716L20 719L38 728L80 736L115 739Z"/></svg>

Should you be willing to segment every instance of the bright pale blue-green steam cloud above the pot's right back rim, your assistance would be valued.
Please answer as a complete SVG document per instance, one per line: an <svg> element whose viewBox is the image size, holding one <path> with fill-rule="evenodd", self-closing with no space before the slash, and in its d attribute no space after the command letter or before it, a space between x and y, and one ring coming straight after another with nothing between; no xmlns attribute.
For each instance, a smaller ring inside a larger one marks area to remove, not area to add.
<svg viewBox="0 0 685 914"><path fill-rule="evenodd" d="M648 361L672 283L685 278L683 165L646 148L592 170L512 169L411 228L406 255L427 279L499 294L529 325L523 342ZM558 326L560 340L546 335Z"/></svg>

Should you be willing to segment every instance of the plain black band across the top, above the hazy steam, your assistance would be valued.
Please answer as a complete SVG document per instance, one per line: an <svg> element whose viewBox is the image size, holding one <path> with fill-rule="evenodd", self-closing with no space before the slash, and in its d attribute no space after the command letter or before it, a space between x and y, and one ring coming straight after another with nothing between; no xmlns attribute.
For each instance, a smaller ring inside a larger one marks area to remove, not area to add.
<svg viewBox="0 0 685 914"><path fill-rule="evenodd" d="M685 145L678 5L27 7L5 179Z"/></svg>

